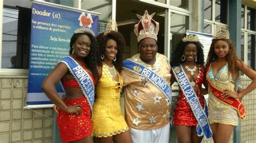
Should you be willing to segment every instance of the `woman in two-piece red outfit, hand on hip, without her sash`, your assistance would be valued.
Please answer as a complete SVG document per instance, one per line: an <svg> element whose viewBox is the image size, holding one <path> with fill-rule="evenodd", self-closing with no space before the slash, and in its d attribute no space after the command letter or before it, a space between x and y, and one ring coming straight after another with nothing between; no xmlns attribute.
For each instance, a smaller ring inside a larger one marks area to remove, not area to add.
<svg viewBox="0 0 256 143"><path fill-rule="evenodd" d="M70 57L80 65L96 83L98 72L96 67L97 44L93 31L81 28L70 40ZM66 65L67 64L67 65ZM66 91L66 99L59 98L55 85L62 81ZM55 69L45 78L42 90L49 99L58 106L57 125L63 142L92 142L91 108L89 101L75 77L68 68L68 63L60 61Z"/></svg>

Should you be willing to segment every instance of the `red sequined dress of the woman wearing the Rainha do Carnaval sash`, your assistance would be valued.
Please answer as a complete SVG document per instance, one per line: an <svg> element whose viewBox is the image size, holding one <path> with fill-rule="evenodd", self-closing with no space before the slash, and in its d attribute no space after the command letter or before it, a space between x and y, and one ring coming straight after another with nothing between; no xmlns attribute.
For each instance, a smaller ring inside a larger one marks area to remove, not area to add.
<svg viewBox="0 0 256 143"><path fill-rule="evenodd" d="M199 68L199 74L195 82L195 86L198 88L197 97L201 106L204 108L204 97L202 93L202 83L204 81L204 72ZM179 89L179 97L176 108L173 110L173 124L175 126L197 126L197 119L194 117L190 105L183 94L183 91Z"/></svg>

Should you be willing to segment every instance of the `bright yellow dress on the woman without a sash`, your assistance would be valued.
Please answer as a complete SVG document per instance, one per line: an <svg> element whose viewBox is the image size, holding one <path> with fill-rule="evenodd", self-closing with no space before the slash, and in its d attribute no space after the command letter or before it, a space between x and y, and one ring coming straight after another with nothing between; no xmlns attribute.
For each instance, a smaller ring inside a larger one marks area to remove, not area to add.
<svg viewBox="0 0 256 143"><path fill-rule="evenodd" d="M92 112L92 134L94 137L111 137L129 130L120 107L120 91L123 79L120 74L119 82L103 64L102 77L96 85L96 99Z"/></svg>

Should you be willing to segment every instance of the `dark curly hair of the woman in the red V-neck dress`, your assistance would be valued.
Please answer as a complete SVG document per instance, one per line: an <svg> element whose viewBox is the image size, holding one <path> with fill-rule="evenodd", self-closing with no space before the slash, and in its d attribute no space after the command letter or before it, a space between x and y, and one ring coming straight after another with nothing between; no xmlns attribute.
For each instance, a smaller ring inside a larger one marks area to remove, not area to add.
<svg viewBox="0 0 256 143"><path fill-rule="evenodd" d="M197 65L203 65L204 66L204 51L203 48L204 46L200 42L195 42L195 41L180 41L176 48L173 49L172 55L171 55L171 66L177 66L178 64L183 63L181 61L181 56L184 53L184 49L188 44L194 44L197 46Z"/></svg>

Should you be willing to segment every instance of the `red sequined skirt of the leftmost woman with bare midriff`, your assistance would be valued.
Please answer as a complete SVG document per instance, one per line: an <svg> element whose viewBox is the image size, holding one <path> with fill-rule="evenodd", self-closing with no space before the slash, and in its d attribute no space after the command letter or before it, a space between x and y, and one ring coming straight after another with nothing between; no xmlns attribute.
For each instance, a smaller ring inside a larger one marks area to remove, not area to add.
<svg viewBox="0 0 256 143"><path fill-rule="evenodd" d="M66 105L82 105L82 114L68 114L59 110L57 125L59 128L60 138L64 142L76 141L83 139L92 133L91 109L85 97L70 99L65 101Z"/></svg>

